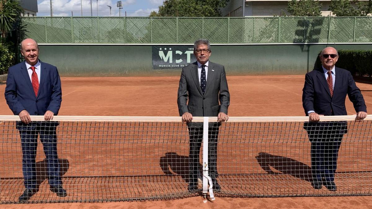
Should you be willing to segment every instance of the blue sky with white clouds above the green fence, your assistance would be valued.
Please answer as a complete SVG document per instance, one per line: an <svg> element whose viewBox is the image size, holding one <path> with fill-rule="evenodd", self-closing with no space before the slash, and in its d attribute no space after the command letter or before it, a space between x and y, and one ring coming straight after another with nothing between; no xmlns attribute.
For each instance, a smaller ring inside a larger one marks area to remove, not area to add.
<svg viewBox="0 0 372 209"><path fill-rule="evenodd" d="M52 0L54 16L71 16L71 11L74 16L81 16L81 5L83 5L83 16L90 16L90 1L91 0ZM112 16L119 16L119 9L116 7L118 0L92 0L92 13L97 16L109 16L111 6ZM127 16L148 16L151 11L158 10L158 6L163 4L164 0L121 0L123 9L121 16L124 16L125 11ZM80 4L81 2L81 4ZM50 15L50 0L38 0L37 16Z"/></svg>

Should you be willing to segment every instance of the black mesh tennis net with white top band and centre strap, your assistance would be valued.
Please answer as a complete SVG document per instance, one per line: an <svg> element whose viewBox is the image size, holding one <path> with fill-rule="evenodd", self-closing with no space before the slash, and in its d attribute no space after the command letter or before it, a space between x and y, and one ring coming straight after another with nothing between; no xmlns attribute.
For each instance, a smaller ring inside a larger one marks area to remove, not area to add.
<svg viewBox="0 0 372 209"><path fill-rule="evenodd" d="M59 174L67 190L65 197L49 190L50 165L38 139L33 182L37 192L28 203L174 199L202 191L201 180L196 191L187 189L190 139L180 117L55 116L59 124L41 122L42 116L31 119L36 122L23 126L18 116L0 116L1 203L19 202L25 189L17 125L31 135L56 130ZM363 121L355 121L355 116L321 120L328 122L318 123L322 127L348 130L334 174L337 191L311 186L307 117L230 117L221 126L216 118L194 117L194 127L203 129L203 122L219 127L217 155L208 155L208 146L201 146L198 177L207 173L206 164L217 161L214 178L221 190L214 190L216 196L371 195L372 116ZM207 142L206 136L200 141ZM210 156L214 159L205 160Z"/></svg>

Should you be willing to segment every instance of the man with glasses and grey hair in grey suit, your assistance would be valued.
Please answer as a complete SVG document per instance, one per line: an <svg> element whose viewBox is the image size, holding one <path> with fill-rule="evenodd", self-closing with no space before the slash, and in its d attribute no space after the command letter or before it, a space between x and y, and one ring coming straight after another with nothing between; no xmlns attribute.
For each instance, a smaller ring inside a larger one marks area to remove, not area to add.
<svg viewBox="0 0 372 209"><path fill-rule="evenodd" d="M194 55L197 62L182 68L178 87L178 110L182 120L187 123L190 136L189 192L198 190L199 153L203 138L203 124L192 123L193 116L218 117L218 122L209 123L208 128L208 168L213 189L221 190L216 180L217 139L221 122L229 118L227 109L230 105L230 93L225 68L208 61L211 53L208 40L195 41Z"/></svg>

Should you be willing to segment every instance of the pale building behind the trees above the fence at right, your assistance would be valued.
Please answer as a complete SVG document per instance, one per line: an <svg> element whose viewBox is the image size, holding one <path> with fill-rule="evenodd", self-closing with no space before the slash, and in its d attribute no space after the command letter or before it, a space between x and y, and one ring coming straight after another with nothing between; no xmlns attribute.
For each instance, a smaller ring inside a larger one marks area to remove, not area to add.
<svg viewBox="0 0 372 209"><path fill-rule="evenodd" d="M322 4L323 16L332 15L328 11L330 0L319 0ZM368 0L359 0L368 1ZM280 12L287 12L288 0L230 0L226 7L221 8L222 16L245 17L245 16L276 16Z"/></svg>

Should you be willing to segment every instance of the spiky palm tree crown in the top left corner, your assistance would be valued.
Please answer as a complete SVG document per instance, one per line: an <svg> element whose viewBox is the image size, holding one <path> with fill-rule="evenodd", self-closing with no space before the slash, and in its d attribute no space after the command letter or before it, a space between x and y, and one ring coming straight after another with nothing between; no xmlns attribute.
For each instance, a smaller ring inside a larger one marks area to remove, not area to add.
<svg viewBox="0 0 372 209"><path fill-rule="evenodd" d="M1 37L5 38L6 34L13 29L13 25L23 13L19 0L0 0L0 32Z"/></svg>

